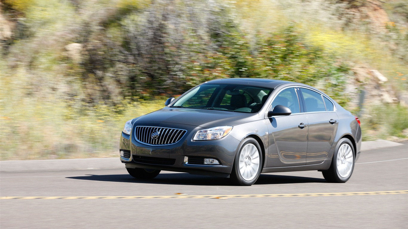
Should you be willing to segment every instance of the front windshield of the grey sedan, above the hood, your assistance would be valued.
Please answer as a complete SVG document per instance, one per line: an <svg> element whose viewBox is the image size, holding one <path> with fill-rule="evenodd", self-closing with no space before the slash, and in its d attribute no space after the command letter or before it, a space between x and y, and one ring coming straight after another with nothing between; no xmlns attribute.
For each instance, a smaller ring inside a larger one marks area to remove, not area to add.
<svg viewBox="0 0 408 229"><path fill-rule="evenodd" d="M202 84L180 97L171 107L258 112L272 88L238 84Z"/></svg>

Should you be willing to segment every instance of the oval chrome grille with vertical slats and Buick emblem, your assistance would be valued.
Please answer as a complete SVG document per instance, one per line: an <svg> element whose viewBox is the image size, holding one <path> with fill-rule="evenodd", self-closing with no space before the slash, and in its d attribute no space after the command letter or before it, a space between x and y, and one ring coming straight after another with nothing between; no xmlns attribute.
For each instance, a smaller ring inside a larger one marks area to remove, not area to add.
<svg viewBox="0 0 408 229"><path fill-rule="evenodd" d="M187 130L173 128L137 126L135 138L147 145L171 145L180 141L186 132Z"/></svg>

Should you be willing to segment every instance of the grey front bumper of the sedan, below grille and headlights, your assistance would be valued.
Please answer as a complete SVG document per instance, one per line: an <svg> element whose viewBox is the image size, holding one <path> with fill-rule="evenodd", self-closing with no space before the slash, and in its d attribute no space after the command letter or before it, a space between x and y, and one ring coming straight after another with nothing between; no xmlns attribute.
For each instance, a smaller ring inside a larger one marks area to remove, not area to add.
<svg viewBox="0 0 408 229"><path fill-rule="evenodd" d="M175 126L166 127L175 128ZM180 128L180 124L177 125L177 128ZM136 141L132 135L133 131L131 135L122 132L120 150L124 151L125 154L120 156L120 160L126 165L126 168L229 177L240 141L232 137L231 134L217 140L193 141L195 132L202 128L188 125L183 125L182 128L186 129L187 133L179 142L172 145L147 145ZM188 163L186 163L185 157L188 158ZM197 163L201 159L204 161L204 158L217 159L220 165Z"/></svg>

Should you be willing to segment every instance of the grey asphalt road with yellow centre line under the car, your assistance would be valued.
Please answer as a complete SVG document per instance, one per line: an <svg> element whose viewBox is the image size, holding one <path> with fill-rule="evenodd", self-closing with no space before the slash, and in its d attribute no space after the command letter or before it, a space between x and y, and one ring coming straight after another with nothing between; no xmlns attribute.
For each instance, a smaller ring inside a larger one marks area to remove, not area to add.
<svg viewBox="0 0 408 229"><path fill-rule="evenodd" d="M124 168L2 172L0 228L408 228L407 148L362 152L344 184L317 171L250 187L170 172L139 181Z"/></svg>

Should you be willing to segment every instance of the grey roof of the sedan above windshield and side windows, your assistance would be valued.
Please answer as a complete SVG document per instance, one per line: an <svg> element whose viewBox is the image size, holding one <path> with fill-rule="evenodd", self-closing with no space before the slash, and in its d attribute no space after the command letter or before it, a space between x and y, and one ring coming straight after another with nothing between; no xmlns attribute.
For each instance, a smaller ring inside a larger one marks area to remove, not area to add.
<svg viewBox="0 0 408 229"><path fill-rule="evenodd" d="M306 86L305 84L284 81L279 79L260 79L260 78L229 78L229 79L214 79L207 81L206 83L211 84L242 84L251 86L260 86L266 88L276 88L282 84L299 85Z"/></svg>

